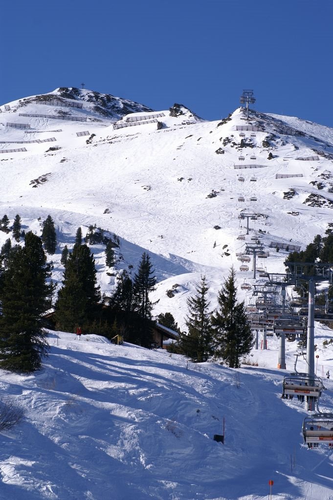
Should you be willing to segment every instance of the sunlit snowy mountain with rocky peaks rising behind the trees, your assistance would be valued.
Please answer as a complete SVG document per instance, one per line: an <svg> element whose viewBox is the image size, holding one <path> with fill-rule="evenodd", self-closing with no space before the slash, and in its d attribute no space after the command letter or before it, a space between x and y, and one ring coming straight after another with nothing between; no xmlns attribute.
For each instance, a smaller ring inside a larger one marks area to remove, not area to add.
<svg viewBox="0 0 333 500"><path fill-rule="evenodd" d="M40 233L51 214L57 282L62 248L73 244L78 226L83 234L90 224L117 234L114 269L105 266L105 246L92 246L106 294L148 250L158 278L155 312L172 312L181 327L200 276L210 283L213 308L246 242L260 238L269 256L257 265L283 272L287 252L276 252L272 242L303 248L331 221L328 127L256 111L247 120L242 108L204 121L182 104L152 110L65 87L0 109L0 215L12 220L19 213L25 229ZM242 219L241 212L257 218ZM247 221L249 234L240 240ZM0 232L0 243L7 237ZM238 283L244 278L251 281L250 270L239 271Z"/></svg>

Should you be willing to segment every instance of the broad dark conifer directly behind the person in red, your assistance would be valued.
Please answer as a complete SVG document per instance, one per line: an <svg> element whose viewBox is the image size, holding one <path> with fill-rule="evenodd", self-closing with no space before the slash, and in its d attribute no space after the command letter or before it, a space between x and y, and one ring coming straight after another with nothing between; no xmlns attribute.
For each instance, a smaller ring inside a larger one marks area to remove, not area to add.
<svg viewBox="0 0 333 500"><path fill-rule="evenodd" d="M100 299L96 285L95 260L86 244L74 245L69 254L56 304L57 326L72 331L76 325L88 325L94 319Z"/></svg>

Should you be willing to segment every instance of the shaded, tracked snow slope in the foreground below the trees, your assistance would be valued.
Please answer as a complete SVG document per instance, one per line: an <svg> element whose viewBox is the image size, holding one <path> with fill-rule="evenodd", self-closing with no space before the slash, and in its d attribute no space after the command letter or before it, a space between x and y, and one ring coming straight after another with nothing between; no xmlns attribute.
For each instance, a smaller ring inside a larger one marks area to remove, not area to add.
<svg viewBox="0 0 333 500"><path fill-rule="evenodd" d="M316 325L319 375L333 368L327 336ZM49 341L40 372L1 372L2 398L25 411L1 433L1 498L264 500L268 480L275 499L332 498L332 450L303 444L307 412L280 398L276 339L238 370L96 335ZM287 342L289 371L294 351ZM332 411L325 385L320 406ZM224 445L213 440L223 419Z"/></svg>

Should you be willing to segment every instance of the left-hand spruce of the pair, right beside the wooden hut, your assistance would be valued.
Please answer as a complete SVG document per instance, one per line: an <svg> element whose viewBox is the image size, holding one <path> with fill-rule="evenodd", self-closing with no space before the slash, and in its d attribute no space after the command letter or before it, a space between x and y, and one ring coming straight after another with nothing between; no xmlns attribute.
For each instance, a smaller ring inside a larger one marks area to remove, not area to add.
<svg viewBox="0 0 333 500"><path fill-rule="evenodd" d="M188 333L182 333L179 341L181 351L198 362L207 361L212 352L208 289L206 277L203 276L195 288L196 295L187 299L188 314L185 322Z"/></svg>

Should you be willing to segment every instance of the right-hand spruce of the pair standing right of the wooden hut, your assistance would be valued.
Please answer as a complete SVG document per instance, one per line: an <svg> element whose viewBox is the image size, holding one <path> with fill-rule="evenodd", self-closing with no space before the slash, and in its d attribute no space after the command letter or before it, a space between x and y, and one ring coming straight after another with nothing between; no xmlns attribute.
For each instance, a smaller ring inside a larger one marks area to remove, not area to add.
<svg viewBox="0 0 333 500"><path fill-rule="evenodd" d="M231 368L239 368L240 356L251 351L254 338L247 321L244 301L237 302L233 267L218 293L217 301L219 307L211 317L216 343L215 353Z"/></svg>

